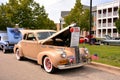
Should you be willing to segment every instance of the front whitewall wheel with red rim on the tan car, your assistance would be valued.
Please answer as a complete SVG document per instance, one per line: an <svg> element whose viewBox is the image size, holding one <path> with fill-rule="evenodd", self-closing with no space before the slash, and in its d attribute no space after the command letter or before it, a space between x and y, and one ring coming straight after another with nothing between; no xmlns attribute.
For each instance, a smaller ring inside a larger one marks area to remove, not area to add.
<svg viewBox="0 0 120 80"><path fill-rule="evenodd" d="M52 65L52 62L49 59L49 57L44 58L43 66L44 66L45 71L48 73L53 73L55 70L55 67Z"/></svg>

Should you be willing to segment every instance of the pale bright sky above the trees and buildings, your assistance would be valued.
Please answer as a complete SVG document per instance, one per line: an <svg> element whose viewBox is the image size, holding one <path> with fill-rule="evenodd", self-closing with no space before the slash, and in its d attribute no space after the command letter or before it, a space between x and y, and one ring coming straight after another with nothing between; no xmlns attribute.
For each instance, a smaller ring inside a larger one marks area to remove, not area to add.
<svg viewBox="0 0 120 80"><path fill-rule="evenodd" d="M8 0L0 0L0 3L5 3ZM61 11L70 11L71 8L74 7L76 0L35 0L40 5L45 7L46 13L48 13L48 17L53 20L55 23L59 23L60 13ZM111 2L114 0L92 0L93 6ZM90 4L90 0L81 0L83 5Z"/></svg>

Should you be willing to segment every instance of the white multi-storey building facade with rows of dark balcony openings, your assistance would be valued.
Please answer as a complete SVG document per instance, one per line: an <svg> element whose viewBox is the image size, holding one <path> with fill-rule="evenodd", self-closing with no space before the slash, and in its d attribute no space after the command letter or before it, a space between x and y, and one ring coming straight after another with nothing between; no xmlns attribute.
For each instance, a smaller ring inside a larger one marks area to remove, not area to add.
<svg viewBox="0 0 120 80"><path fill-rule="evenodd" d="M104 38L105 35L118 37L115 21L119 17L118 10L120 0L101 4L97 6L96 11L96 37Z"/></svg>

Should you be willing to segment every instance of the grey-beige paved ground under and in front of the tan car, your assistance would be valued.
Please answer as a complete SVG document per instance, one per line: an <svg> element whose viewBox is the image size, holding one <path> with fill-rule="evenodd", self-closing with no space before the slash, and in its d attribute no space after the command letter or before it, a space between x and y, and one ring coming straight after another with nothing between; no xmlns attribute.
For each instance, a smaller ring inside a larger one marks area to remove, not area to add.
<svg viewBox="0 0 120 80"><path fill-rule="evenodd" d="M17 61L13 53L0 51L0 80L119 80L120 76L89 66L57 70L54 74L44 71L36 61Z"/></svg>

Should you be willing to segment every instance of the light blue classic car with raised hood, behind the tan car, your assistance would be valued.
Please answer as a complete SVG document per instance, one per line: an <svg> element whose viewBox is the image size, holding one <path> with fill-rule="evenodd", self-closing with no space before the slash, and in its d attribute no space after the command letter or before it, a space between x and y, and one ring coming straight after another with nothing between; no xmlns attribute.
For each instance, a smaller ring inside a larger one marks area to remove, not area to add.
<svg viewBox="0 0 120 80"><path fill-rule="evenodd" d="M22 28L8 28L6 32L0 33L0 49L3 53L13 51L14 45L21 40L20 29Z"/></svg>

